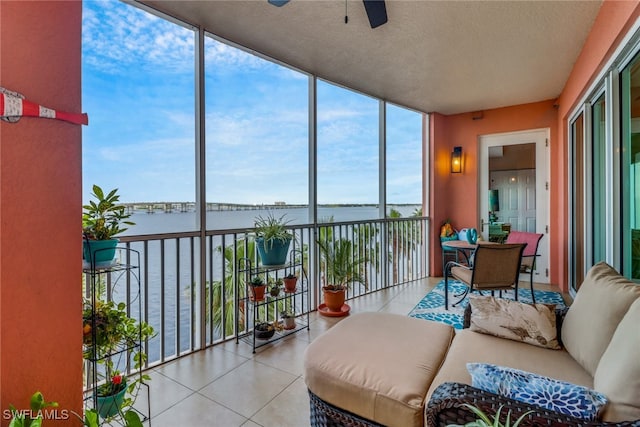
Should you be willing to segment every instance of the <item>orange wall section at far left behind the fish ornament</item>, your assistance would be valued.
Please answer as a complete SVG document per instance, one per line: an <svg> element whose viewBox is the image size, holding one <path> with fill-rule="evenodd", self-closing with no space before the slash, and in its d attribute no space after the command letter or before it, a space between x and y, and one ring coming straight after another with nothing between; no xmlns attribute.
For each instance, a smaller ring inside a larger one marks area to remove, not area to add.
<svg viewBox="0 0 640 427"><path fill-rule="evenodd" d="M81 27L77 0L0 1L0 86L80 112ZM2 411L36 390L57 416L82 408L81 141L58 120L0 121Z"/></svg>

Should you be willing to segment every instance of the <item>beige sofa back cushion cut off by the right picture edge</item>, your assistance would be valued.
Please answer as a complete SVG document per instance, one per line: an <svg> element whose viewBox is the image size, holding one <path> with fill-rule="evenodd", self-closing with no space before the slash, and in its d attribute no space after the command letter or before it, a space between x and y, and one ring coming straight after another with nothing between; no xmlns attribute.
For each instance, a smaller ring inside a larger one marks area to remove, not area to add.
<svg viewBox="0 0 640 427"><path fill-rule="evenodd" d="M640 299L618 325L593 377L594 388L609 398L605 421L640 420Z"/></svg>

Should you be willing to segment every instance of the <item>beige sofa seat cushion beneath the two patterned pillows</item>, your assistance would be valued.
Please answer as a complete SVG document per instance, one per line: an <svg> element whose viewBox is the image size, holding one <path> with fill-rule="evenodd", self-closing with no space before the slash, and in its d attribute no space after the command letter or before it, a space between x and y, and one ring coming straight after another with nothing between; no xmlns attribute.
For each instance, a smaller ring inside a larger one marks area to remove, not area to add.
<svg viewBox="0 0 640 427"><path fill-rule="evenodd" d="M551 350L464 329L458 331L447 358L427 393L447 381L471 385L467 363L491 363L593 388L593 377L564 350Z"/></svg>

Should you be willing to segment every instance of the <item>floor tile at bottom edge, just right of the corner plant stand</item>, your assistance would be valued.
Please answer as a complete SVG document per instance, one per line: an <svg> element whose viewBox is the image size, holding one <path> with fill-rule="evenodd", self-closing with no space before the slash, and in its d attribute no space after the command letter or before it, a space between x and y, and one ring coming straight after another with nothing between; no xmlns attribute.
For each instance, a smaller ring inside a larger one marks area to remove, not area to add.
<svg viewBox="0 0 640 427"><path fill-rule="evenodd" d="M246 417L207 399L200 394L192 394L155 418L153 427L176 426L225 426L239 427Z"/></svg>

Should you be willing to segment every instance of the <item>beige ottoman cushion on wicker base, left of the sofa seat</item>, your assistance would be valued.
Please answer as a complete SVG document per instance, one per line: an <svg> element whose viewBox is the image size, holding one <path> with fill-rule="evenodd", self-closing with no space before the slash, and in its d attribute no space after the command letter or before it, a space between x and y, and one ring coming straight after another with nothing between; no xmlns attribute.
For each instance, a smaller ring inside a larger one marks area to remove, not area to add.
<svg viewBox="0 0 640 427"><path fill-rule="evenodd" d="M423 426L425 396L454 336L452 327L388 313L352 315L304 355L309 390L386 426Z"/></svg>

